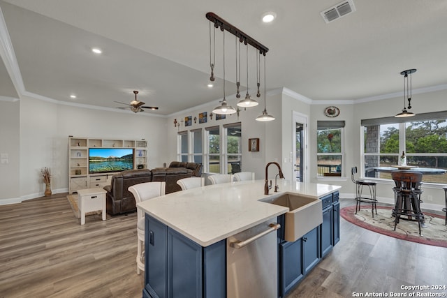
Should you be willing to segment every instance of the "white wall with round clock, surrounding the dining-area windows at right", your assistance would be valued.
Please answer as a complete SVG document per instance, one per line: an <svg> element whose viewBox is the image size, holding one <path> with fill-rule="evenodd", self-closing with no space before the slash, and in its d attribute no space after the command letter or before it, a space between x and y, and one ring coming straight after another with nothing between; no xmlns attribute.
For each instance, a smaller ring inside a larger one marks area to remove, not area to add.
<svg viewBox="0 0 447 298"><path fill-rule="evenodd" d="M423 112L434 112L447 110L447 90L432 91L423 94L413 93L413 106L411 112L415 114ZM312 105L309 129L309 146L311 150L310 176L311 182L333 184L342 186L341 193L348 197L353 197L355 185L351 181L351 167L360 167L360 124L362 119L372 119L380 117L391 117L402 110L402 96L397 98L387 98L383 100L367 101L364 103L355 103L352 105L337 105L340 109L340 115L337 120L346 121L344 130L344 177L318 177L316 178L316 121L328 120L324 116L323 110L328 105ZM393 182L378 181L377 198L382 202L394 202ZM427 196L432 196L433 200L427 200ZM427 209L440 209L439 205L444 205L444 191L439 186L423 186L422 207Z"/></svg>

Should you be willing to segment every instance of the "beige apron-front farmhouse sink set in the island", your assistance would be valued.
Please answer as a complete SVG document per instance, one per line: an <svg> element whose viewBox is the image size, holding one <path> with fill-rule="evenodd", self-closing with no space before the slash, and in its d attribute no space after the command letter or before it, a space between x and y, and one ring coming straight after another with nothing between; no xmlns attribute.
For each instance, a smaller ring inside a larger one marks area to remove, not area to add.
<svg viewBox="0 0 447 298"><path fill-rule="evenodd" d="M322 205L318 198L304 197L295 193L281 193L262 199L261 202L288 207L289 211L284 214L286 241L296 241L323 223Z"/></svg>

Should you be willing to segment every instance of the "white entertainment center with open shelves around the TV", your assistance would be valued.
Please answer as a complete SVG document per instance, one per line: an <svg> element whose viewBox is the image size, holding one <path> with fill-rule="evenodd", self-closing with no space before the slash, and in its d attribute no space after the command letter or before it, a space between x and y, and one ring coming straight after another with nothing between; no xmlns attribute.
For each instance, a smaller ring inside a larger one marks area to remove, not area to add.
<svg viewBox="0 0 447 298"><path fill-rule="evenodd" d="M103 188L116 172L92 173L89 170L89 149L133 149L133 169L147 168L147 141L111 140L89 137L68 137L68 193L78 189Z"/></svg>

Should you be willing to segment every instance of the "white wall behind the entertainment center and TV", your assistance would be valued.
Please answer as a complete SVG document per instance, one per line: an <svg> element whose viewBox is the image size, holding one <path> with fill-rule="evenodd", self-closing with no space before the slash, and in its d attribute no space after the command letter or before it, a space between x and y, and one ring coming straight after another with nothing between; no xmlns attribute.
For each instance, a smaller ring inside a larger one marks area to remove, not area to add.
<svg viewBox="0 0 447 298"><path fill-rule="evenodd" d="M10 192L20 195L17 202L43 195L42 167L50 167L54 193L68 191L68 135L145 139L148 141L149 168L161 167L168 156L166 119L161 117L91 110L24 97L20 100L19 122L20 146L17 142L14 150L20 151L20 187L8 185ZM0 199L10 202L11 197L13 195Z"/></svg>

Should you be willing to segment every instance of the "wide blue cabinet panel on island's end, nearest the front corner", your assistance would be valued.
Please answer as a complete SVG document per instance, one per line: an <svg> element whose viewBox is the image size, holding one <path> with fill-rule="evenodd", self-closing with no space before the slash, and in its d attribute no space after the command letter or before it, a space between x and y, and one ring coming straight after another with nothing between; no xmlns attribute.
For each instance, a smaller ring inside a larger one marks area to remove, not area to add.
<svg viewBox="0 0 447 298"><path fill-rule="evenodd" d="M202 297L202 246L168 228L168 296Z"/></svg>

